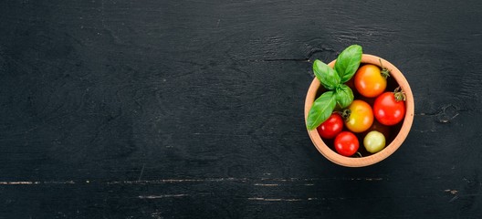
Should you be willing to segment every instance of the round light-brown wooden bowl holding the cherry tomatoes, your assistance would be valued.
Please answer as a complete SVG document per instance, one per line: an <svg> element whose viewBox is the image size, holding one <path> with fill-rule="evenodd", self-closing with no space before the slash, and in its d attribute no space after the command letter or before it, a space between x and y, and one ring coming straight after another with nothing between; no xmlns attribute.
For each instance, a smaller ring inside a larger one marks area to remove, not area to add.
<svg viewBox="0 0 482 219"><path fill-rule="evenodd" d="M390 141L387 139L387 143L389 144L382 151L379 151L377 153L371 154L369 156L361 157L361 158L345 157L338 154L336 151L333 151L321 139L320 134L316 129L308 130L309 138L311 139L311 141L313 141L313 144L315 145L315 147L318 149L318 151L320 151L320 153L323 156L325 156L331 162L337 163L341 166L347 166L347 167L362 167L362 166L372 165L373 163L376 163L376 162L381 162L383 159L390 156L394 151L396 151L402 145L403 141L408 135L408 132L410 131L410 128L412 127L412 122L414 121L414 94L412 93L412 89L410 89L410 86L407 80L405 79L405 77L403 77L402 72L387 60L381 57L375 57L367 54L363 54L361 56L361 65L373 64L380 67L381 66L380 60L382 60L383 67L390 70L391 78L393 78L394 81L398 83L398 86L402 88L402 90L405 92L405 95L406 95L405 118L403 119L403 122L401 122L402 125L398 126L400 130L398 129L395 130L395 131L398 131L398 133L395 133L396 135L393 135L394 136L393 141ZM330 68L334 67L335 61L336 60L333 60L330 62L330 64L328 64ZM311 85L309 86L309 90L305 100L305 122L308 118L308 112L309 112L309 109L311 109L311 105L313 105L313 102L315 101L315 99L318 98L317 94L320 93L319 89L320 89L320 80L318 80L318 78L314 78L313 81L311 82ZM324 88L321 87L321 89L324 89ZM354 88L352 89L353 89L353 92L355 92L355 89ZM388 87L387 87L387 91L389 91ZM362 141L360 142L360 147L361 148L363 147Z"/></svg>

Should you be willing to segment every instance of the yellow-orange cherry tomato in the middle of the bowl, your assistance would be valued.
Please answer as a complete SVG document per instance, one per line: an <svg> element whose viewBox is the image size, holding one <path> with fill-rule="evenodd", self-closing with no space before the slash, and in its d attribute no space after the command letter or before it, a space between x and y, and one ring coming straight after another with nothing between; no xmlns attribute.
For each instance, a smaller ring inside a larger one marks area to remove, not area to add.
<svg viewBox="0 0 482 219"><path fill-rule="evenodd" d="M363 100L355 99L348 107L350 115L345 120L348 130L353 132L363 132L368 130L373 123L372 107Z"/></svg>

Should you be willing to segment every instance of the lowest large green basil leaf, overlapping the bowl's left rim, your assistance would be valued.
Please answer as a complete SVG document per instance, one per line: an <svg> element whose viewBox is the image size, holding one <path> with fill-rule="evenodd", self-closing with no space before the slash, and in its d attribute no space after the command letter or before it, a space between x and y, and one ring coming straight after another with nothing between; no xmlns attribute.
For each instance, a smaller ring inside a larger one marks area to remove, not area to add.
<svg viewBox="0 0 482 219"><path fill-rule="evenodd" d="M314 130L320 126L323 121L327 120L336 105L336 96L334 91L327 91L316 99L308 113L307 128Z"/></svg>

